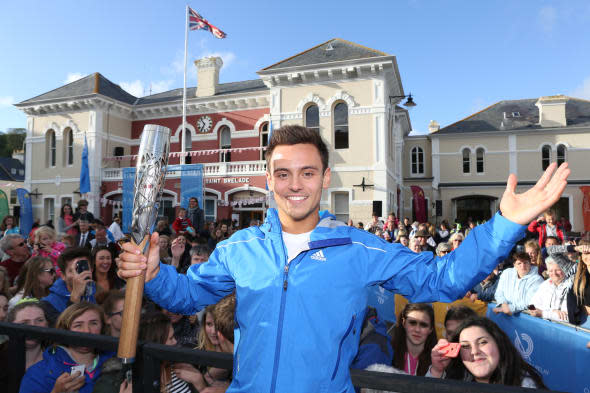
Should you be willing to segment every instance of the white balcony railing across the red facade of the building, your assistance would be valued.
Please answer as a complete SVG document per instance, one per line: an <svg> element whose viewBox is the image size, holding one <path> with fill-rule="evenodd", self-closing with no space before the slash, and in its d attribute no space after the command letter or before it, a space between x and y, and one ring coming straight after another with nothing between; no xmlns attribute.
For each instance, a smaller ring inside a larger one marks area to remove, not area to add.
<svg viewBox="0 0 590 393"><path fill-rule="evenodd" d="M266 161L213 162L203 164L203 175L206 177L264 175L265 171ZM166 177L169 179L180 178L180 171L168 171ZM123 180L123 168L103 168L102 180Z"/></svg>

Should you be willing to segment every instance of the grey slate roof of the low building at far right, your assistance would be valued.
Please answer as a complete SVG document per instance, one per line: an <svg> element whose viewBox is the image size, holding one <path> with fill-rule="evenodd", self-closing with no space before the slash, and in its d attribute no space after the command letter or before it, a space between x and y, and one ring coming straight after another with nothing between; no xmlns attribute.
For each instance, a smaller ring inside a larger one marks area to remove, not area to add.
<svg viewBox="0 0 590 393"><path fill-rule="evenodd" d="M500 101L434 134L541 129L537 101L538 98ZM565 117L568 126L590 126L590 101L569 98Z"/></svg>

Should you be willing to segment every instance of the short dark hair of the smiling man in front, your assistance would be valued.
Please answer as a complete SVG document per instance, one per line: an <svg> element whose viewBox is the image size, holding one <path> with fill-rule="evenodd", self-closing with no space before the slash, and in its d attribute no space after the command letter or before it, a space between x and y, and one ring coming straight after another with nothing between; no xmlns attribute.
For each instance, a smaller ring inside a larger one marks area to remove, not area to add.
<svg viewBox="0 0 590 393"><path fill-rule="evenodd" d="M320 134L310 128L293 125L283 126L273 131L266 147L266 166L268 170L270 170L270 160L275 147L281 145L298 145L300 143L308 143L318 149L322 159L322 171L325 171L328 168L330 155L328 153L328 147Z"/></svg>

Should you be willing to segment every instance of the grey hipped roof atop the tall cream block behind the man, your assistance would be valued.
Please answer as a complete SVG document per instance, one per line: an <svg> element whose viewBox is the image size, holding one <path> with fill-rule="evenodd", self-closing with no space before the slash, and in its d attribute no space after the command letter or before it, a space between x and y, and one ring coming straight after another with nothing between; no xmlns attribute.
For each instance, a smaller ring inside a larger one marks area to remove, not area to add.
<svg viewBox="0 0 590 393"><path fill-rule="evenodd" d="M281 68L305 66L311 64L332 63L335 61L368 59L371 57L390 56L387 53L367 48L340 38L333 38L306 51L298 53L278 63L263 68L262 71Z"/></svg>

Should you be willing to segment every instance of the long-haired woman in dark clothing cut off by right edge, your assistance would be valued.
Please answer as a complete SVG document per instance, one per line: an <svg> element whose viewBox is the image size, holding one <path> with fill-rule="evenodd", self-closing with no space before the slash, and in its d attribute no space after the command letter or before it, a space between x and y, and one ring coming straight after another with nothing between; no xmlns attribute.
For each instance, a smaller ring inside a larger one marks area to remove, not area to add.
<svg viewBox="0 0 590 393"><path fill-rule="evenodd" d="M590 241L581 240L582 255L578 262L572 290L568 293L569 321L576 325L590 325Z"/></svg>

